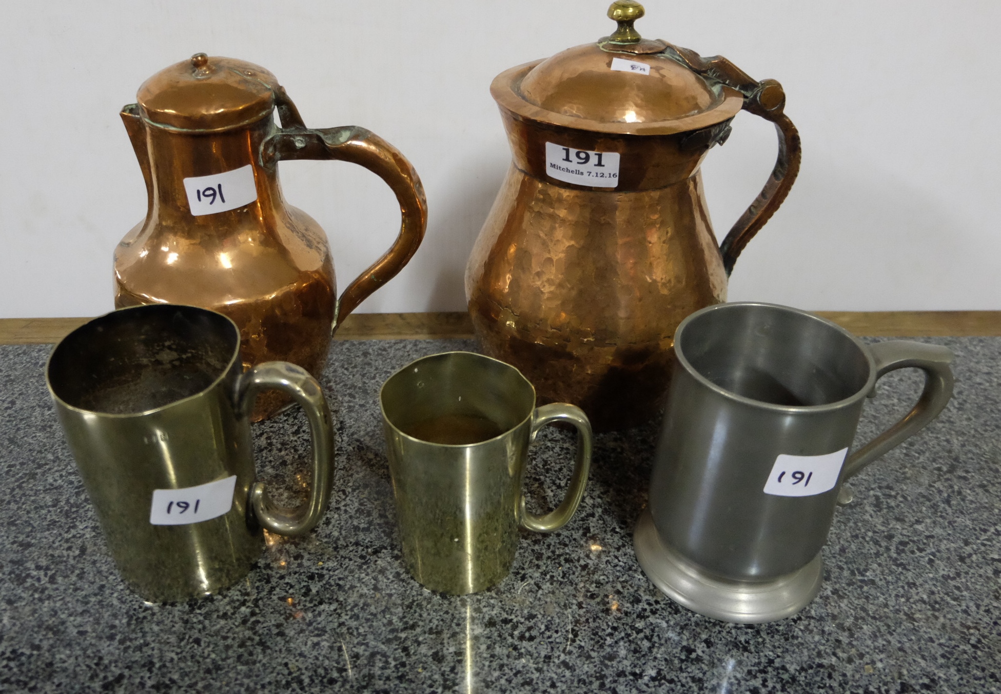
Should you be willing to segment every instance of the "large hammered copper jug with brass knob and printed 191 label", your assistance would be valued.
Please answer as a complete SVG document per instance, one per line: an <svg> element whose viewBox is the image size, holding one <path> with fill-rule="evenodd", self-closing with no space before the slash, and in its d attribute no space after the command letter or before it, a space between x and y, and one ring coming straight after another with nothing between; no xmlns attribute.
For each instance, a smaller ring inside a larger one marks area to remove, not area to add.
<svg viewBox="0 0 1001 694"><path fill-rule="evenodd" d="M541 401L596 429L663 405L675 328L726 300L741 250L785 199L800 163L775 80L641 38L643 7L612 5L612 36L500 73L490 85L514 154L466 268L472 324ZM765 189L721 245L700 164L745 109L775 123Z"/></svg>

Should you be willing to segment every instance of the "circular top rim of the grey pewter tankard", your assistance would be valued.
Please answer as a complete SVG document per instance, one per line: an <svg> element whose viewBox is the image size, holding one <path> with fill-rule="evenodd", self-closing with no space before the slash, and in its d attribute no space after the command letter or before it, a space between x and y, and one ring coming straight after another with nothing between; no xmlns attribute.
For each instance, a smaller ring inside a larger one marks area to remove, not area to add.
<svg viewBox="0 0 1001 694"><path fill-rule="evenodd" d="M833 403L824 403L823 405L776 405L775 403L768 403L761 400L755 400L754 398L748 398L747 396L738 395L733 391L729 391L723 388L722 386L714 384L712 381L710 381L709 379L704 377L701 373L699 373L699 371L692 366L692 363L688 361L688 359L679 349L679 344L681 343L682 333L685 330L685 328L689 325L689 323L698 320L701 316L705 314L717 310L728 310L731 307L740 309L749 306L764 306L767 308L778 308L780 310L789 313L798 313L804 317L807 317L811 320L816 320L820 323L823 323L824 325L827 325L830 328L837 330L838 332L841 332L855 344L855 346L865 358L866 363L869 365L869 375L866 378L865 385L852 395L848 396L847 398L843 398ZM674 352L675 352L675 359L678 360L678 363L681 364L682 367L685 368L685 371L688 372L689 375L692 376L700 385L705 386L706 388L710 389L717 395L720 395L735 403L750 405L756 408L761 408L763 410L769 410L772 412L782 412L782 413L792 414L792 413L825 413L825 412L833 412L835 410L841 410L865 398L867 394L872 392L873 387L876 385L876 362L873 359L872 353L870 353L869 348L867 348L862 340L860 340L857 336L855 336L854 334L846 330L844 327L834 322L833 320L828 320L827 318L821 317L816 313L811 313L810 311L804 310L802 308L787 306L781 303L768 303L766 301L725 301L723 303L714 303L712 305L706 306L705 308L700 308L699 310L690 313L688 316L686 316L686 318L682 320L681 323L679 323L677 329L675 329Z"/></svg>

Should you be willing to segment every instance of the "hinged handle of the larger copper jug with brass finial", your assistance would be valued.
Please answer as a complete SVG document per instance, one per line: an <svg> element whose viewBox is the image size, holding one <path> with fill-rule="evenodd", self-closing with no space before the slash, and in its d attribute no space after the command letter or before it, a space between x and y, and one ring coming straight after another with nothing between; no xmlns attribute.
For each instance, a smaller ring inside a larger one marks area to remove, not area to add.
<svg viewBox="0 0 1001 694"><path fill-rule="evenodd" d="M737 262L737 256L765 222L775 214L775 210L786 199L789 189L796 181L796 176L800 172L800 133L789 116L783 112L786 107L786 92L778 81L763 79L758 82L719 55L703 58L693 50L670 44L664 53L667 57L703 75L711 83L725 84L741 92L744 95L744 110L775 123L775 129L779 134L779 156L775 168L772 169L772 175L757 199L741 215L720 244L723 266L727 269L727 276L730 276L734 263Z"/></svg>

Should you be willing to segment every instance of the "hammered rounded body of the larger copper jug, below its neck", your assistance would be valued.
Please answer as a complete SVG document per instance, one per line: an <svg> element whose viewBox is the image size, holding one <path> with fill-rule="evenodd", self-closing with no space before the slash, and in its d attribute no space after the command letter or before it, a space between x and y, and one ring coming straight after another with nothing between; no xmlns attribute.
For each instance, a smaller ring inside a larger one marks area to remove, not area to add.
<svg viewBox="0 0 1001 694"><path fill-rule="evenodd" d="M518 367L541 401L578 405L602 430L653 417L674 327L727 297L701 188L696 175L582 194L513 166L466 275L486 353Z"/></svg>

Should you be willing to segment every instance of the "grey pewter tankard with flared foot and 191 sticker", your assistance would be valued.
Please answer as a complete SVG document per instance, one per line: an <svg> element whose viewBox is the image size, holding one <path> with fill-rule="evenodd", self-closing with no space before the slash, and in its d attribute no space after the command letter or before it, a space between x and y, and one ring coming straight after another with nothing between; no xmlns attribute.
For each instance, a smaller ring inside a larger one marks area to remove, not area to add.
<svg viewBox="0 0 1001 694"><path fill-rule="evenodd" d="M949 350L865 345L806 311L724 303L675 333L676 366L636 531L647 575L676 602L731 622L795 614L820 590L821 548L845 480L949 402ZM914 409L851 455L866 396L925 372Z"/></svg>

